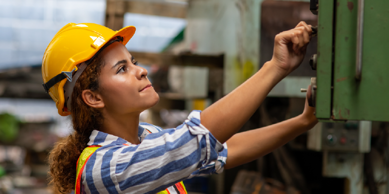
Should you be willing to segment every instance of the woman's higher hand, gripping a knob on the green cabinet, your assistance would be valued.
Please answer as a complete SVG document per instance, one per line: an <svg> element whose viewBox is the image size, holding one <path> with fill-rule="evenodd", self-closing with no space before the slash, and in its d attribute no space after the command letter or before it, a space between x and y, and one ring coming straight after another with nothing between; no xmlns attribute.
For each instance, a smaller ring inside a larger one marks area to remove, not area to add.
<svg viewBox="0 0 389 194"><path fill-rule="evenodd" d="M270 62L281 70L283 76L299 67L311 40L311 34L311 25L301 21L296 28L276 35Z"/></svg>

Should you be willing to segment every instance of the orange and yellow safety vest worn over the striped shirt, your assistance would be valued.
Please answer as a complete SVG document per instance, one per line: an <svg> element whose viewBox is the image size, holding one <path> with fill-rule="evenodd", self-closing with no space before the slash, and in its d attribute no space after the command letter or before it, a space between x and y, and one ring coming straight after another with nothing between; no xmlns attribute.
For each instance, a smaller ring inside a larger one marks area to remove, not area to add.
<svg viewBox="0 0 389 194"><path fill-rule="evenodd" d="M74 189L75 194L81 194L81 177L82 177L82 172L84 171L85 164L88 162L90 156L101 146L88 146L87 148L84 149L84 151L81 153L80 157L77 160L77 174L76 174L76 186ZM170 189L169 189L170 188ZM172 190L172 187L169 187L168 189L159 192L158 194L170 194ZM184 183L178 182L174 185L174 192L178 191L178 194L188 194Z"/></svg>

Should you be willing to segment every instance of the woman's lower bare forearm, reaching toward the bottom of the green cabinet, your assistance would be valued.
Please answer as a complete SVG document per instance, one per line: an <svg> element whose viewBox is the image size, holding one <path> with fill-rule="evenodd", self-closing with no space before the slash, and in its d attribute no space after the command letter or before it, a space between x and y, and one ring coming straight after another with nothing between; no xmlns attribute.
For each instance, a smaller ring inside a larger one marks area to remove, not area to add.
<svg viewBox="0 0 389 194"><path fill-rule="evenodd" d="M225 169L256 160L312 129L316 124L316 117L304 117L301 114L274 125L237 133L227 141Z"/></svg>

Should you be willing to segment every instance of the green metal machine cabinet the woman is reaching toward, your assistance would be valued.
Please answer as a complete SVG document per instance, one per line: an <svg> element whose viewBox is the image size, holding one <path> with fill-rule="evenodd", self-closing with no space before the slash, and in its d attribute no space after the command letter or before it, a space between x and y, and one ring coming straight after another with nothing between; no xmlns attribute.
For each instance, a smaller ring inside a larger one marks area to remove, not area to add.
<svg viewBox="0 0 389 194"><path fill-rule="evenodd" d="M318 53L310 101L323 122L389 121L389 1L311 0Z"/></svg>

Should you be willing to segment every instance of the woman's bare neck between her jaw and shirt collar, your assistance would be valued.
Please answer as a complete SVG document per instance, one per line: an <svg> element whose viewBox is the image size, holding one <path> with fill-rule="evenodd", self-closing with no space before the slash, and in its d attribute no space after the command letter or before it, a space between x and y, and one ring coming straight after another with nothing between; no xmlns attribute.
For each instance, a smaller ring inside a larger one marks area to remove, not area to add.
<svg viewBox="0 0 389 194"><path fill-rule="evenodd" d="M105 114L100 131L123 138L131 144L140 144L138 139L139 114Z"/></svg>

